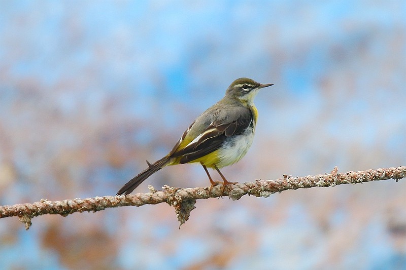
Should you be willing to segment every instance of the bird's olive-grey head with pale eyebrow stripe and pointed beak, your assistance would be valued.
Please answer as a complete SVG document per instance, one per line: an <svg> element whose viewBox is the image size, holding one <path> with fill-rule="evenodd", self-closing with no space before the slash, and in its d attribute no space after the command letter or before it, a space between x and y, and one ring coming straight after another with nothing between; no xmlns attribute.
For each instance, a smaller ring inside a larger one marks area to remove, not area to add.
<svg viewBox="0 0 406 270"><path fill-rule="evenodd" d="M230 84L230 86L227 88L226 95L252 103L259 89L272 85L274 84L260 84L252 79L240 78Z"/></svg>

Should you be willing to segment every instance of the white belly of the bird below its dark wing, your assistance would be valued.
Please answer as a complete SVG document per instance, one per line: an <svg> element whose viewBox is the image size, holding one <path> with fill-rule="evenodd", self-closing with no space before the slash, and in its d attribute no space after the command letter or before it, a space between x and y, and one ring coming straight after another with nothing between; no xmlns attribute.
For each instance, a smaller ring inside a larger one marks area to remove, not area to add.
<svg viewBox="0 0 406 270"><path fill-rule="evenodd" d="M241 135L234 136L231 140L225 142L218 151L219 163L216 164L217 168L240 161L251 147L253 139L254 130L251 126Z"/></svg>

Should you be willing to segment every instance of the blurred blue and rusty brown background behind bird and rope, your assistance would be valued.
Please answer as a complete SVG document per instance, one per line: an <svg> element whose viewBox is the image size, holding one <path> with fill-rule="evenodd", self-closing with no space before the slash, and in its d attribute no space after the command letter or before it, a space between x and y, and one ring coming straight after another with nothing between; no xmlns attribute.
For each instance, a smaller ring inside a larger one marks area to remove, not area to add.
<svg viewBox="0 0 406 270"><path fill-rule="evenodd" d="M246 76L230 181L406 165L403 1L1 1L0 205L115 195ZM218 177L213 172L213 176ZM197 165L145 181L208 186ZM0 220L2 269L406 269L406 181Z"/></svg>

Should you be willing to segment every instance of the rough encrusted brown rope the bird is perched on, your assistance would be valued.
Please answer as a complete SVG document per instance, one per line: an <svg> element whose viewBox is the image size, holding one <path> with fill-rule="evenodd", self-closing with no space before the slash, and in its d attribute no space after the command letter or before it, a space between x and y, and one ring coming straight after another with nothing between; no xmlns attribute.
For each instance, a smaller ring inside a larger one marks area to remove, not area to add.
<svg viewBox="0 0 406 270"><path fill-rule="evenodd" d="M369 181L398 179L406 177L406 166L380 168L358 172L337 173L338 168L329 174L315 176L291 177L284 175L277 180L257 180L255 182L235 183L225 187L222 184L210 187L176 188L163 186L162 191L148 186L150 192L127 196L104 196L86 199L63 201L47 201L42 199L33 204L16 204L0 206L0 218L18 216L25 223L25 228L31 226L31 219L45 214L59 214L67 216L75 212L96 212L111 207L142 206L145 204L167 203L175 208L180 225L189 219L190 212L195 208L197 199L217 198L229 196L238 200L244 195L255 197L269 197L276 192L287 189L310 188L316 186L329 187L341 184L356 184Z"/></svg>

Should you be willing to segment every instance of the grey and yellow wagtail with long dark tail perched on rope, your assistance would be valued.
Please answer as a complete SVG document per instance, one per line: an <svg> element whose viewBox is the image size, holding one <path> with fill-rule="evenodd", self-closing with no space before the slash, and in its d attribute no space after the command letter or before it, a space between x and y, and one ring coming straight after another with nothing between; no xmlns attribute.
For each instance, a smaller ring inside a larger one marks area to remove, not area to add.
<svg viewBox="0 0 406 270"><path fill-rule="evenodd" d="M151 164L139 175L129 180L117 195L127 195L153 173L168 165L199 162L213 181L207 167L214 168L223 179L223 188L232 182L227 181L219 168L241 160L252 144L258 110L254 97L258 90L273 84L260 84L248 78L240 78L231 83L225 96L200 114L183 133L174 148L162 159Z"/></svg>

